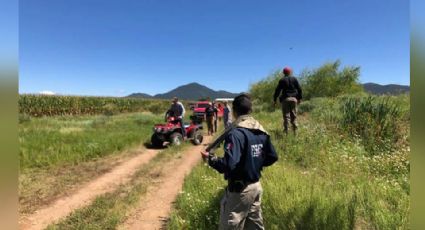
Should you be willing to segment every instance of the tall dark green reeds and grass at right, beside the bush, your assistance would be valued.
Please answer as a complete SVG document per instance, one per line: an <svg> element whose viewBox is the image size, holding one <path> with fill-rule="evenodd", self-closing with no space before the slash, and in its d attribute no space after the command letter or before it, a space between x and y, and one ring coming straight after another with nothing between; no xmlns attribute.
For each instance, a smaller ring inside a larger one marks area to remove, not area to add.
<svg viewBox="0 0 425 230"><path fill-rule="evenodd" d="M335 132L360 140L374 155L406 147L409 138L409 96L342 96L315 98L300 106Z"/></svg>

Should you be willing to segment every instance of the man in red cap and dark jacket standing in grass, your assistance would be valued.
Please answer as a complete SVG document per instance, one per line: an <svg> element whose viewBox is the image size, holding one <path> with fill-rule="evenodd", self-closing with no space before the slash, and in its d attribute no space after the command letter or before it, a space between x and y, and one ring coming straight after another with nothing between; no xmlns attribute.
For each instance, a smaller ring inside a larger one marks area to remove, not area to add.
<svg viewBox="0 0 425 230"><path fill-rule="evenodd" d="M291 121L292 130L294 131L294 134L296 134L296 130L298 128L297 104L301 103L303 96L301 86L298 83L298 80L292 76L292 69L289 67L285 67L283 69L283 77L279 80L279 84L274 92L274 105L276 105L276 99L278 97L282 104L284 132L288 134L288 123Z"/></svg>

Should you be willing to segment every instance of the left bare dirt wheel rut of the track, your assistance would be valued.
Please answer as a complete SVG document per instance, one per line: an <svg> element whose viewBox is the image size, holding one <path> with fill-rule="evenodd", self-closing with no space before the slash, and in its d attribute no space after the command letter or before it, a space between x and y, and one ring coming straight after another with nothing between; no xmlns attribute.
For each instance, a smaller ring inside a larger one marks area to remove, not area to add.
<svg viewBox="0 0 425 230"><path fill-rule="evenodd" d="M160 150L146 149L110 172L87 183L74 194L62 197L51 205L41 208L28 216L20 217L19 229L44 229L59 219L66 217L72 211L89 205L97 196L112 192L120 184L128 182L132 175L144 164L154 158Z"/></svg>

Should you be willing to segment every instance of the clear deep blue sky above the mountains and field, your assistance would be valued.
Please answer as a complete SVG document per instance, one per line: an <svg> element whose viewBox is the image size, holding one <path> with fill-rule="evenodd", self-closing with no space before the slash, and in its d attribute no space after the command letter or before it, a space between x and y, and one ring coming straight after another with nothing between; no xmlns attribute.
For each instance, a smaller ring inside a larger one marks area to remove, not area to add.
<svg viewBox="0 0 425 230"><path fill-rule="evenodd" d="M409 78L406 0L25 0L20 93L124 96L199 82L246 91L285 65ZM291 49L292 47L292 49Z"/></svg>

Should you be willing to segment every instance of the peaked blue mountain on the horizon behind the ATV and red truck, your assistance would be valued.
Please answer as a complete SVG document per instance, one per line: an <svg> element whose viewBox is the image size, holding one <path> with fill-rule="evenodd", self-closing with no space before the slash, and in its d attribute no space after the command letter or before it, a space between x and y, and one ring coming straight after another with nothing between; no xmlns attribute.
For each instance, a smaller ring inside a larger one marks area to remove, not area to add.
<svg viewBox="0 0 425 230"><path fill-rule="evenodd" d="M155 96L151 96L145 93L133 93L128 95L127 97L158 98L158 99L171 99L173 97L178 97L179 99L183 99L183 100L198 100L200 98L207 98L207 97L214 99L214 98L222 98L222 97L224 98L235 97L237 95L238 94L236 93L230 93L224 90L215 91L204 85L193 82L187 85L179 86L166 93L156 94Z"/></svg>

